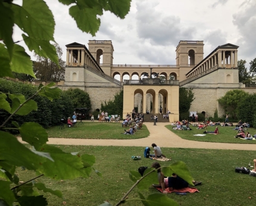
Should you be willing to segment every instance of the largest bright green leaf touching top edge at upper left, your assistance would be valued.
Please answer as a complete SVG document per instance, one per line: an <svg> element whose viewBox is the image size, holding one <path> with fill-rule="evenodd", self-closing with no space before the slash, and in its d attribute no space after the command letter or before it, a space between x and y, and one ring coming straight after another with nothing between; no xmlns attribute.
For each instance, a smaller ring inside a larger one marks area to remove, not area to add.
<svg viewBox="0 0 256 206"><path fill-rule="evenodd" d="M23 0L22 2L22 7L12 5L14 23L30 38L54 41L55 22L47 4L42 0Z"/></svg>

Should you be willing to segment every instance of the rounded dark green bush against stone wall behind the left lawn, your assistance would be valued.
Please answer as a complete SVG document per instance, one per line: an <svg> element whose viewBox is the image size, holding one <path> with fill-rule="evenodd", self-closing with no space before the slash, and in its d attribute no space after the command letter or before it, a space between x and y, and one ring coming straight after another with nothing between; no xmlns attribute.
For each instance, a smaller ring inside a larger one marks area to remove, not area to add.
<svg viewBox="0 0 256 206"><path fill-rule="evenodd" d="M71 99L73 108L87 108L89 110L92 109L91 99L87 92L80 90L78 88L70 88L67 91L65 91L65 93Z"/></svg>

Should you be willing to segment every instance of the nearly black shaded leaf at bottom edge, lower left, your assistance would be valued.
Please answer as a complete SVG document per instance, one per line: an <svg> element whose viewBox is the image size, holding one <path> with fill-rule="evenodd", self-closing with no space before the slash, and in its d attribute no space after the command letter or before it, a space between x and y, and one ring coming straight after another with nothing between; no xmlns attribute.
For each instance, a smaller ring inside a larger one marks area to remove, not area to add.
<svg viewBox="0 0 256 206"><path fill-rule="evenodd" d="M21 206L46 206L48 205L46 198L43 195L39 196L22 196L17 199Z"/></svg>

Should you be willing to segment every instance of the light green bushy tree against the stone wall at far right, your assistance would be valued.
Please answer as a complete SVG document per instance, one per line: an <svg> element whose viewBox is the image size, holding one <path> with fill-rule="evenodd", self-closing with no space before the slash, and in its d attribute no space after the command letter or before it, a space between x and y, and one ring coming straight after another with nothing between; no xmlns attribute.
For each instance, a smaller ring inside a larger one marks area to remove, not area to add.
<svg viewBox="0 0 256 206"><path fill-rule="evenodd" d="M246 98L249 93L243 90L231 90L225 93L225 95L218 99L220 105L224 107L225 112L228 112L230 108L230 113L236 119L236 114L238 113L238 105L240 101Z"/></svg>

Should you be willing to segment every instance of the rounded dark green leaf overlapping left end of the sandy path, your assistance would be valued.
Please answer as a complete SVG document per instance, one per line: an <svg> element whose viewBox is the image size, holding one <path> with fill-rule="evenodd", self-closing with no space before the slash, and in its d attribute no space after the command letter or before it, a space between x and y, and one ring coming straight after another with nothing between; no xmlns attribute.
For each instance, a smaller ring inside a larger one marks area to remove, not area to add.
<svg viewBox="0 0 256 206"><path fill-rule="evenodd" d="M20 127L22 141L33 145L36 149L48 142L46 130L38 123L24 123Z"/></svg>

